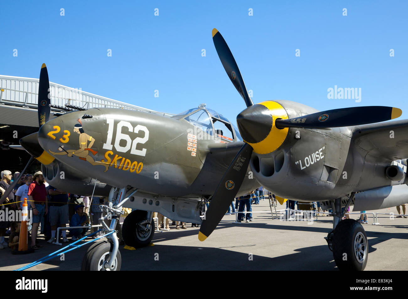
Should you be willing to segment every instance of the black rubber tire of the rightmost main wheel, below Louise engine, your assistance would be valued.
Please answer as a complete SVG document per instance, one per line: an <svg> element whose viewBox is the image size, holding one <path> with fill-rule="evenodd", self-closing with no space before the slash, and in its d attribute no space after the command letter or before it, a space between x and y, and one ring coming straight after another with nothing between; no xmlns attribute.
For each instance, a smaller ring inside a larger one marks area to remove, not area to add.
<svg viewBox="0 0 408 299"><path fill-rule="evenodd" d="M364 235L366 256L360 263L355 257L354 240L358 233ZM347 255L344 256L344 253ZM362 271L368 260L368 239L361 224L354 219L344 219L337 224L333 233L333 257L337 268L342 271ZM344 260L344 257L347 257Z"/></svg>

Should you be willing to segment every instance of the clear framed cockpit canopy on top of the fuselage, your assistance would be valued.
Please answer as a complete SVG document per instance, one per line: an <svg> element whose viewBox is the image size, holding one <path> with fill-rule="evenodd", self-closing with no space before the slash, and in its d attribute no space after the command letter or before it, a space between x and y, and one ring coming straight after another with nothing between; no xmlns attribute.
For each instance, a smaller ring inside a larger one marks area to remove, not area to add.
<svg viewBox="0 0 408 299"><path fill-rule="evenodd" d="M220 113L207 109L205 104L201 104L198 108L188 109L171 118L184 119L222 142L242 141L238 129Z"/></svg>

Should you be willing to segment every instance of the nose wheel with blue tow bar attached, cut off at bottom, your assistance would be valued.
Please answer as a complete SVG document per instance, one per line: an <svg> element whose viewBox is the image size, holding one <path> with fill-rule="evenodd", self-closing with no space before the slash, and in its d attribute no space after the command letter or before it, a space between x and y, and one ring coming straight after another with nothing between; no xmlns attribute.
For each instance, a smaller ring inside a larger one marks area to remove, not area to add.
<svg viewBox="0 0 408 299"><path fill-rule="evenodd" d="M109 241L99 241L89 246L82 259L82 271L119 271L122 266L120 251L116 254L111 268L108 263L112 255L113 244Z"/></svg>

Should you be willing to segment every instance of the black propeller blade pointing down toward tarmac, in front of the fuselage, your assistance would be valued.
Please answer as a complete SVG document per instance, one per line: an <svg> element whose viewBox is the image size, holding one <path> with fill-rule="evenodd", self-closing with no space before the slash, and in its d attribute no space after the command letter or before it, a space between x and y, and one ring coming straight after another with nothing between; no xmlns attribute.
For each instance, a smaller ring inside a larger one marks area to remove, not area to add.
<svg viewBox="0 0 408 299"><path fill-rule="evenodd" d="M208 206L205 218L201 224L200 232L198 233L200 241L204 241L213 232L222 217L224 217L235 195L237 195L244 181L252 150L249 144L244 144L230 166L228 166L220 184L215 189L211 204Z"/></svg>

